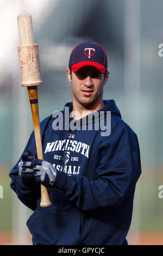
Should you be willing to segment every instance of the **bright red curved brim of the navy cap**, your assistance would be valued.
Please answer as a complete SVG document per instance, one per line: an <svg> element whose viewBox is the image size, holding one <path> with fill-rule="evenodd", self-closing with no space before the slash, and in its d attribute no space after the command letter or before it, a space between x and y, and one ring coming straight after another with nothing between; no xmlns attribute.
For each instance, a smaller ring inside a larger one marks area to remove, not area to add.
<svg viewBox="0 0 163 256"><path fill-rule="evenodd" d="M104 72L106 70L105 66L103 66L97 62L85 61L85 62L78 62L76 64L73 64L72 71L75 73L78 71L78 69L83 68L83 66L95 66L95 68L98 69L102 74L104 74Z"/></svg>

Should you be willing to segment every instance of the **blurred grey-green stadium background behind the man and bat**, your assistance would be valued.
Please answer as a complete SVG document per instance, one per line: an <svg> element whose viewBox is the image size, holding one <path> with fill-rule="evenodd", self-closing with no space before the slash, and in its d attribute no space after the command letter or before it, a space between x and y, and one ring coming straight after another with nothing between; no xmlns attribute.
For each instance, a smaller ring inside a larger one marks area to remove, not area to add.
<svg viewBox="0 0 163 256"><path fill-rule="evenodd" d="M108 55L104 99L115 99L122 118L139 138L142 174L136 186L131 245L163 245L163 2L161 0L1 0L0 28L0 244L30 244L32 211L10 189L9 172L33 130L27 88L21 87L17 15L33 17L39 44L40 120L71 101L66 68L72 48L84 40Z"/></svg>

